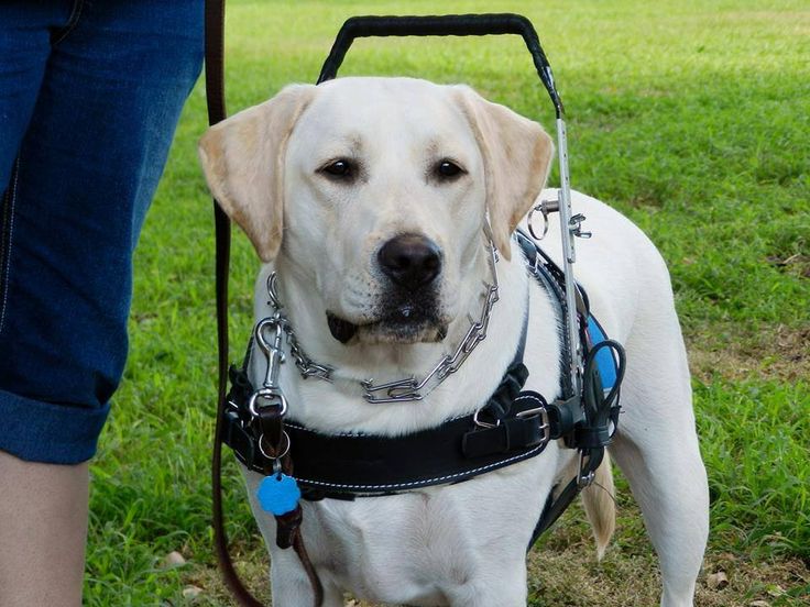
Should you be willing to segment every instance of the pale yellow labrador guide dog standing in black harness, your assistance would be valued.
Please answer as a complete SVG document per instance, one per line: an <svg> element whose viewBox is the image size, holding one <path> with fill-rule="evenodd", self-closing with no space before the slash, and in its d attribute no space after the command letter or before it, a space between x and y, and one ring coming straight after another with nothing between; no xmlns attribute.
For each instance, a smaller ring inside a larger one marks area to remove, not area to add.
<svg viewBox="0 0 810 607"><path fill-rule="evenodd" d="M559 394L559 320L511 239L544 196L552 142L538 124L463 86L342 78L289 86L210 129L199 150L211 190L265 264L256 318L272 311L265 282L274 271L299 343L339 369L330 384L282 365L296 421L393 437L474 412L513 360L527 313L526 387L549 401ZM611 454L658 553L661 605L692 605L709 499L669 276L627 219L583 194L572 205L594 233L578 242L577 279L627 355ZM490 242L500 252L500 301L458 372L418 401L372 404L344 389L351 379L424 377L456 349L481 310ZM558 234L546 242L559 258ZM263 365L252 371L256 385ZM552 442L457 485L305 501L303 537L325 605L342 605L344 592L394 605L525 605L526 544L574 455ZM612 486L606 466L600 474ZM273 603L308 605L298 559L276 548L273 517L253 497L260 475L245 475L270 547ZM598 495L585 505L603 550L614 512Z"/></svg>

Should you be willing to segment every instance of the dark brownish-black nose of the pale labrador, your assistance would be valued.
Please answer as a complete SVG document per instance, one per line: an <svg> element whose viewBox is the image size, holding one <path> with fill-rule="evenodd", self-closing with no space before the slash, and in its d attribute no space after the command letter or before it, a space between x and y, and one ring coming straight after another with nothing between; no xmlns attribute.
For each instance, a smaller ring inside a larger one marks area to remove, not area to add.
<svg viewBox="0 0 810 607"><path fill-rule="evenodd" d="M441 272L441 250L419 234L391 239L376 257L388 278L412 290L431 283Z"/></svg>

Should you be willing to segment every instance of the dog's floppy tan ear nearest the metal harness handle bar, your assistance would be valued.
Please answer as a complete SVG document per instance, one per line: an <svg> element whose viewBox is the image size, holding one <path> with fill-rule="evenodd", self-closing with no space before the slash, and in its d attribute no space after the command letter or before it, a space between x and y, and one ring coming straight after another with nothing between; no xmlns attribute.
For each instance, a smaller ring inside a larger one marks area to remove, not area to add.
<svg viewBox="0 0 810 607"><path fill-rule="evenodd" d="M469 87L457 87L456 93L484 159L492 240L510 260L510 238L546 185L554 142L536 122Z"/></svg>

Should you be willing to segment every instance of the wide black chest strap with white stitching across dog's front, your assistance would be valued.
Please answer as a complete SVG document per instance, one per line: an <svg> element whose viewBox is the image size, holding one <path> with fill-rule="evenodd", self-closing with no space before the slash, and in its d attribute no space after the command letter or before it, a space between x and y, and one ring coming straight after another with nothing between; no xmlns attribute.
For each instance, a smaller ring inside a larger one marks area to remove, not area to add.
<svg viewBox="0 0 810 607"><path fill-rule="evenodd" d="M513 363L483 415L463 416L403 437L322 434L285 421L304 497L352 499L459 483L539 454L552 433L545 399L521 391L527 375L522 363ZM223 440L245 466L265 473L271 462L259 449L259 430L243 415L250 382L236 368L231 379Z"/></svg>

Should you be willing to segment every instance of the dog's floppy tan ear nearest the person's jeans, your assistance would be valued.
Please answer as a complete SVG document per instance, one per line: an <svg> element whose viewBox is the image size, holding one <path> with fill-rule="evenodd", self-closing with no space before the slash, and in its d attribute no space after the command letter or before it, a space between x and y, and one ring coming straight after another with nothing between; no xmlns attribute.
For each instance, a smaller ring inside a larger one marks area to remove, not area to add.
<svg viewBox="0 0 810 607"><path fill-rule="evenodd" d="M314 85L285 87L270 101L211 126L197 147L214 197L263 262L272 261L282 244L287 141L315 90Z"/></svg>

